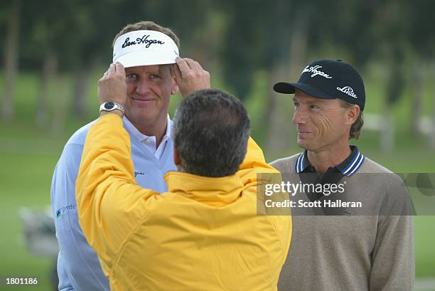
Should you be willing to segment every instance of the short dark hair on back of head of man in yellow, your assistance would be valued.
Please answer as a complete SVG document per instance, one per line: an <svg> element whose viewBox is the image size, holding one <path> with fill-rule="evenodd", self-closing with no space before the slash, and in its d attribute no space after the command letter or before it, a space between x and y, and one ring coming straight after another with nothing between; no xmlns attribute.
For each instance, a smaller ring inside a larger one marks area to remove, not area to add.
<svg viewBox="0 0 435 291"><path fill-rule="evenodd" d="M173 131L183 171L230 176L245 159L249 117L242 102L227 92L199 90L178 105Z"/></svg>

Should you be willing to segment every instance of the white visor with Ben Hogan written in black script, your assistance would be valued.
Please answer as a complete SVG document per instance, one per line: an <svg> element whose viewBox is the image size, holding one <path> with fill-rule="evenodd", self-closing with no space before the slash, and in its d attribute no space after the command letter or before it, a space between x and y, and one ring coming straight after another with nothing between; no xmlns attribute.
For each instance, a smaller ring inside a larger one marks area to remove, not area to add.
<svg viewBox="0 0 435 291"><path fill-rule="evenodd" d="M113 63L124 68L176 63L178 47L159 31L131 31L119 36L113 46Z"/></svg>

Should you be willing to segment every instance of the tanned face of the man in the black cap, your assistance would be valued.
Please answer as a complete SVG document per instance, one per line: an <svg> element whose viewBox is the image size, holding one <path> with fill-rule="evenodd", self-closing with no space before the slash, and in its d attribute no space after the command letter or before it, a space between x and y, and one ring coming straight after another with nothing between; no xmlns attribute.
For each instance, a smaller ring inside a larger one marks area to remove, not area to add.
<svg viewBox="0 0 435 291"><path fill-rule="evenodd" d="M348 143L350 125L356 119L355 109L342 107L338 99L311 97L297 89L293 99L293 123L299 147L321 152ZM358 116L359 110L356 111Z"/></svg>

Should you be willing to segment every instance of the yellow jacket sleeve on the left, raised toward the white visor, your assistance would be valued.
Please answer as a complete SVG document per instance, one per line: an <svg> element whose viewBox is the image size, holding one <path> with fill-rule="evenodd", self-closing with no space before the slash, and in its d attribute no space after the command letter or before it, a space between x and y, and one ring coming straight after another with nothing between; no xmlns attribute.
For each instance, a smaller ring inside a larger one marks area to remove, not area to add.
<svg viewBox="0 0 435 291"><path fill-rule="evenodd" d="M129 135L108 114L92 125L76 182L77 209L87 242L109 275L123 243L163 198L134 181Z"/></svg>

